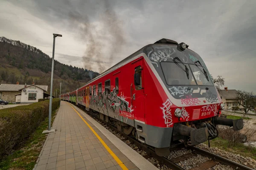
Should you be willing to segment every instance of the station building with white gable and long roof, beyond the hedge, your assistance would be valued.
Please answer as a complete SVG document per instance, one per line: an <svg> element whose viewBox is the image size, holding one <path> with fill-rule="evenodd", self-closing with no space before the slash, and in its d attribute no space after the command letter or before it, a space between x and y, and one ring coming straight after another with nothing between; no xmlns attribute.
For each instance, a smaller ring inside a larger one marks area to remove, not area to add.
<svg viewBox="0 0 256 170"><path fill-rule="evenodd" d="M44 99L49 96L46 94L48 89L47 85L16 85L1 84L0 85L0 99L16 103L31 103L38 102L38 99Z"/></svg>

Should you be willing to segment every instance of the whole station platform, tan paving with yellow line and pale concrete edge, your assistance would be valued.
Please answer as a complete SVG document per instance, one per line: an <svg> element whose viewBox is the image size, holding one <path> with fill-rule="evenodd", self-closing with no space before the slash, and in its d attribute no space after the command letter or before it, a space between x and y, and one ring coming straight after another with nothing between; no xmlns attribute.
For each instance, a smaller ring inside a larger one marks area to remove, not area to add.
<svg viewBox="0 0 256 170"><path fill-rule="evenodd" d="M34 170L158 170L89 115L61 101Z"/></svg>

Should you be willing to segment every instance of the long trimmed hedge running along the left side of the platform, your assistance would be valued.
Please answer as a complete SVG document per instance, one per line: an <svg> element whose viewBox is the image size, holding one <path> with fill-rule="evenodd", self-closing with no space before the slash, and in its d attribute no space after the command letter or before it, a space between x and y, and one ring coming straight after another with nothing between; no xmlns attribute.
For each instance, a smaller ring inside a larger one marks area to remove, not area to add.
<svg viewBox="0 0 256 170"><path fill-rule="evenodd" d="M52 110L59 105L59 99L52 100ZM0 159L11 153L18 144L40 125L49 114L49 100L31 105L0 110Z"/></svg>

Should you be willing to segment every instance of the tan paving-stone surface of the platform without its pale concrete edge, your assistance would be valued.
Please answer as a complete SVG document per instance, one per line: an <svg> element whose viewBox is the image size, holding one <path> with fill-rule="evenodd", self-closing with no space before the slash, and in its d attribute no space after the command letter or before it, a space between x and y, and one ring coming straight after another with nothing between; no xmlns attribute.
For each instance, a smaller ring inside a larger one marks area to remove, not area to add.
<svg viewBox="0 0 256 170"><path fill-rule="evenodd" d="M82 117L122 164L117 163L71 104L61 101L52 125L56 131L49 133L35 170L139 170L90 121Z"/></svg>

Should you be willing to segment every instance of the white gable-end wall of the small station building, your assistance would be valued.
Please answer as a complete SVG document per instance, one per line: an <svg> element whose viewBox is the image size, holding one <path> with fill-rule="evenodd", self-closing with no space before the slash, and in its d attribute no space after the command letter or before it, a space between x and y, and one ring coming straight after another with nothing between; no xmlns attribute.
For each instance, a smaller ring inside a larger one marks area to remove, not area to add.
<svg viewBox="0 0 256 170"><path fill-rule="evenodd" d="M26 90L23 91L23 90ZM41 88L38 88L34 85L29 86L27 88L24 88L21 90L21 103L24 102L38 102L38 99L43 99L44 98L44 91ZM35 93L36 94L36 100L29 100L29 93Z"/></svg>

